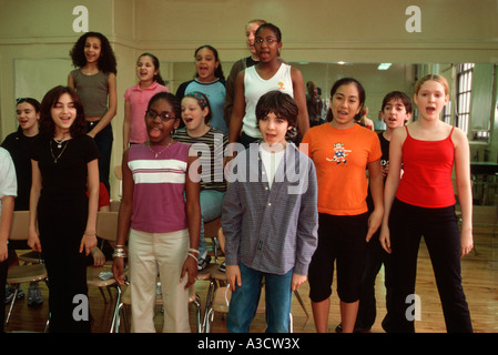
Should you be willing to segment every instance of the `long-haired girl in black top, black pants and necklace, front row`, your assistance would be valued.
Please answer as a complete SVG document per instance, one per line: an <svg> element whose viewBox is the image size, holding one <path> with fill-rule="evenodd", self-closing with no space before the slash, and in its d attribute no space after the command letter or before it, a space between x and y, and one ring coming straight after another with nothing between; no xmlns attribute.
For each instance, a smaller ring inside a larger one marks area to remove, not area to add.
<svg viewBox="0 0 498 355"><path fill-rule="evenodd" d="M98 156L74 90L50 90L41 103L40 138L31 153L28 240L45 261L50 332L90 332L85 254L96 245Z"/></svg>

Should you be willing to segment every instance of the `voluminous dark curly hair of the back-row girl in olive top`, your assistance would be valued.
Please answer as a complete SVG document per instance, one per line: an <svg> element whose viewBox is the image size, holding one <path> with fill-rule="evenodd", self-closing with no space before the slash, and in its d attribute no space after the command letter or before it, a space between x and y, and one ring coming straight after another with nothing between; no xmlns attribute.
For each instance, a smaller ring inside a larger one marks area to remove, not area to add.
<svg viewBox="0 0 498 355"><path fill-rule="evenodd" d="M104 73L118 74L118 63L111 43L105 36L99 32L87 32L81 36L69 52L74 68L81 68L87 64L84 57L84 43L89 37L95 37L101 42L101 52L99 57L99 69Z"/></svg>

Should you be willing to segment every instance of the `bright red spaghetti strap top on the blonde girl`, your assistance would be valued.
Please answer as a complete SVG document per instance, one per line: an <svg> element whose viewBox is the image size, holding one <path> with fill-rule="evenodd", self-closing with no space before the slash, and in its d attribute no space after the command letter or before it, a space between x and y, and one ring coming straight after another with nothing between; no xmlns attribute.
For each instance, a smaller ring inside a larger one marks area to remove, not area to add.
<svg viewBox="0 0 498 355"><path fill-rule="evenodd" d="M451 172L455 146L451 129L448 138L440 141L414 139L406 129L403 143L403 176L396 197L420 207L439 209L456 203Z"/></svg>

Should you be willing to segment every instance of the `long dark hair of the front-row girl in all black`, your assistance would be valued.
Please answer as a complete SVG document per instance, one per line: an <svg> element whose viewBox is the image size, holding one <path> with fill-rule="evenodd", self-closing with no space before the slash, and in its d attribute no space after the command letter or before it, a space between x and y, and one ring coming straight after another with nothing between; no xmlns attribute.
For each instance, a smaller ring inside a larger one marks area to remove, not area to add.
<svg viewBox="0 0 498 355"><path fill-rule="evenodd" d="M69 132L72 138L80 136L87 134L87 123L84 121L84 111L83 104L81 103L80 98L77 92L70 87L55 87L45 93L43 100L41 101L41 110L40 110L40 134L53 138L55 133L55 123L52 119L52 108L55 105L60 97L62 94L69 93L74 103L74 108L77 109L77 119L69 129Z"/></svg>

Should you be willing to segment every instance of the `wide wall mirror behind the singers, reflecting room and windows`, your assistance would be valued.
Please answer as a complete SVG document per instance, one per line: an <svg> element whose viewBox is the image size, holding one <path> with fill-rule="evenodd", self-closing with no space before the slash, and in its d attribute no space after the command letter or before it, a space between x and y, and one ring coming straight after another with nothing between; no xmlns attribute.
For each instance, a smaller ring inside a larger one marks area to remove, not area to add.
<svg viewBox="0 0 498 355"><path fill-rule="evenodd" d="M225 77L232 62L222 62ZM362 82L366 91L366 105L370 119L377 119L382 100L393 90L413 95L417 79L426 73L444 75L450 85L450 102L444 112L447 123L458 125L469 134L472 142L488 143L496 93L494 92L495 65L490 63L321 63L289 62L303 73L305 83L313 81L322 91L322 98L329 99L334 82L344 77L353 77ZM470 74L460 71L470 68ZM169 81L169 88L177 87L194 77L193 62L162 62L161 73ZM465 83L465 84L464 84ZM459 95L459 90L465 91ZM417 119L417 112L413 119Z"/></svg>

